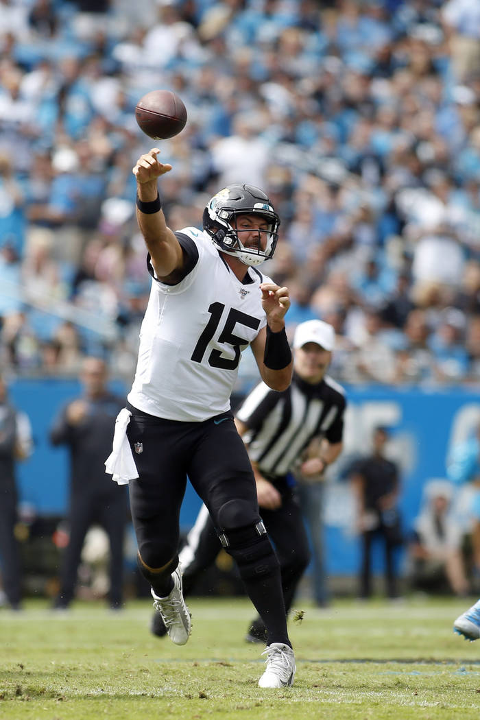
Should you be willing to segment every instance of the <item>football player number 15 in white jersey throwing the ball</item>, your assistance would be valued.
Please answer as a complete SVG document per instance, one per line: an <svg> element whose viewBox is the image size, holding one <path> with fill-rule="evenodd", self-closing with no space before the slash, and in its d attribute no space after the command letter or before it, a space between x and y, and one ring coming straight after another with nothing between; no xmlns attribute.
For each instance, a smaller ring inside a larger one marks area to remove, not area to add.
<svg viewBox="0 0 480 720"><path fill-rule="evenodd" d="M291 381L284 321L289 291L257 269L273 256L280 220L264 192L233 184L208 202L203 230L174 232L158 193L158 179L172 166L158 161L159 152L153 148L133 168L153 282L135 379L117 418L107 472L117 482L130 480L140 572L176 644L186 643L191 632L177 554L189 477L266 626L266 670L258 684L281 688L293 683L295 661L279 562L230 410L240 354L248 345L268 387L283 391Z"/></svg>

